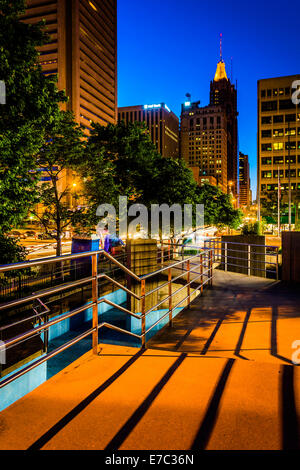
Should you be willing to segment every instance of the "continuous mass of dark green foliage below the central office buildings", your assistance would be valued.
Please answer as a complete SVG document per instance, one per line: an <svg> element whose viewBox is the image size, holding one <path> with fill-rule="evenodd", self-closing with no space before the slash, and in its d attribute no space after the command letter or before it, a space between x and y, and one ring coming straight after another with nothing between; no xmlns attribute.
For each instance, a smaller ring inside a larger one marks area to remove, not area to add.
<svg viewBox="0 0 300 470"><path fill-rule="evenodd" d="M219 188L198 188L183 160L163 158L140 123L93 125L81 167L90 207L89 220L96 223L99 204L118 205L119 195L144 204L204 204L207 225L240 225L242 213Z"/></svg>

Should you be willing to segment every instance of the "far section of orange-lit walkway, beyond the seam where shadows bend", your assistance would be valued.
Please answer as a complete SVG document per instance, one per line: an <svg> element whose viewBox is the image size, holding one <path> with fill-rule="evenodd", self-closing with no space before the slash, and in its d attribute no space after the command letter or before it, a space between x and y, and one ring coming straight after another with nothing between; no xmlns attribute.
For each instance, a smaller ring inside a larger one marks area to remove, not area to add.
<svg viewBox="0 0 300 470"><path fill-rule="evenodd" d="M291 364L295 340L300 340L299 286L289 289L270 279L216 270L213 289L148 347Z"/></svg>

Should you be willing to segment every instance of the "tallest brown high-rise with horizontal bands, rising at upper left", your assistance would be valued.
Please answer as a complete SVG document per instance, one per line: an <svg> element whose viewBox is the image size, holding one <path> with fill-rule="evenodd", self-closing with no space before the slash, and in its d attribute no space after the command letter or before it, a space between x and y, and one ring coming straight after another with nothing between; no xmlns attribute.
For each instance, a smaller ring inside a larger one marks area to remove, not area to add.
<svg viewBox="0 0 300 470"><path fill-rule="evenodd" d="M117 120L116 0L27 0L26 23L45 20L40 48L45 74L58 74L67 108L88 133L91 121Z"/></svg>

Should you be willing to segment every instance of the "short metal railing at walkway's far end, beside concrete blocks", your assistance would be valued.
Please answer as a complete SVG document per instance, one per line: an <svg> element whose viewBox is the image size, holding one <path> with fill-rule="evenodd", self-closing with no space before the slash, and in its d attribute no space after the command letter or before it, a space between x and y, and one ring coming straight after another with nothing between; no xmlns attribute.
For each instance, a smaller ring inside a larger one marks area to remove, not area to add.
<svg viewBox="0 0 300 470"><path fill-rule="evenodd" d="M279 247L255 243L231 242L213 238L204 242L213 250L213 262L220 262L224 271L248 276L269 276L279 280Z"/></svg>

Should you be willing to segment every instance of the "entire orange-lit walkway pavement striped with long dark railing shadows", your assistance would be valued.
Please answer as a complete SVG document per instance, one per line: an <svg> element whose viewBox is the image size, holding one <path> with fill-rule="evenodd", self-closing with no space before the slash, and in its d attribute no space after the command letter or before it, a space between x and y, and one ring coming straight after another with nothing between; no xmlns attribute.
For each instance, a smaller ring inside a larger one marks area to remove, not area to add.
<svg viewBox="0 0 300 470"><path fill-rule="evenodd" d="M146 351L101 345L3 411L0 448L300 448L299 294L215 286Z"/></svg>

